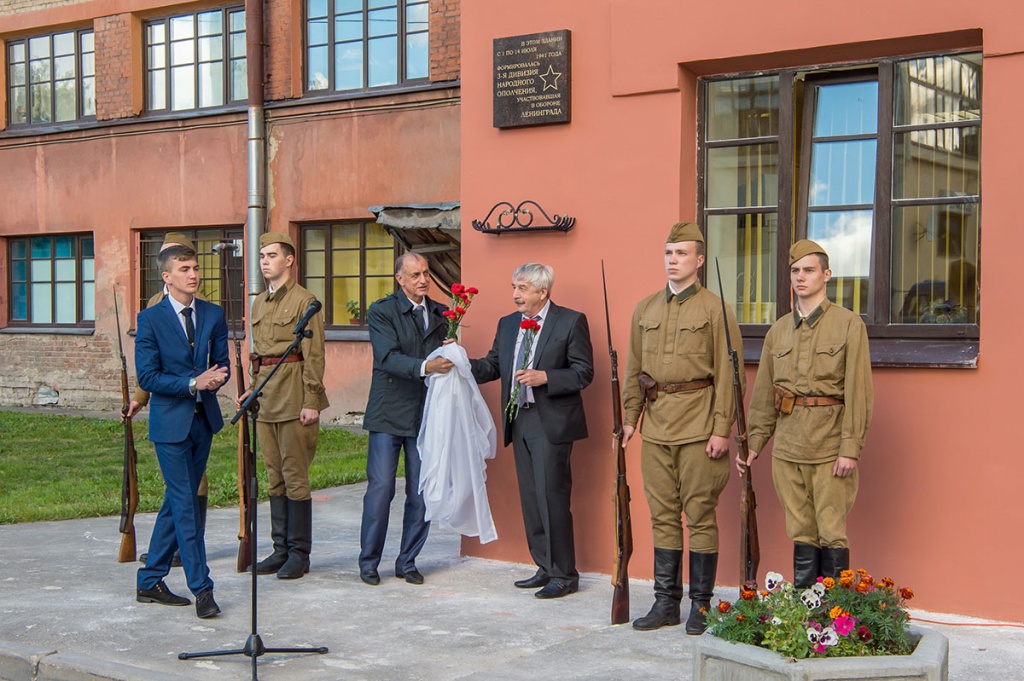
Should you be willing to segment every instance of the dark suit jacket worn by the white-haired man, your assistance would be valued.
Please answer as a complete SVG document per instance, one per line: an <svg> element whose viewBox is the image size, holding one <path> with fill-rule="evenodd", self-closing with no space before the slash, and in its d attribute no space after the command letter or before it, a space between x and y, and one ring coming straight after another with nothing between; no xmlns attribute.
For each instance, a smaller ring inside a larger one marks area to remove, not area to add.
<svg viewBox="0 0 1024 681"><path fill-rule="evenodd" d="M495 344L487 356L472 359L477 383L502 381L502 422L505 444L512 441L512 425L504 416L512 385L515 341L522 314L513 312L498 322ZM541 336L532 350L534 369L548 373L547 385L534 388L534 401L543 416L544 432L555 444L587 437L587 417L580 391L594 380L594 350L587 316L551 303Z"/></svg>

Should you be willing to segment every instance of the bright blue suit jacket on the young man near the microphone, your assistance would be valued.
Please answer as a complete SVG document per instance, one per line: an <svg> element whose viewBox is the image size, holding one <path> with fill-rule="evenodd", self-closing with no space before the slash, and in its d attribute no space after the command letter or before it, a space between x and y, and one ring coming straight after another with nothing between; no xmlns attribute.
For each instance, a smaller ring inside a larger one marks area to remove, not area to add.
<svg viewBox="0 0 1024 681"><path fill-rule="evenodd" d="M196 396L188 391L189 379L213 365L230 371L224 311L199 298L195 300L195 349L188 347L170 298L138 313L135 373L139 386L153 395L150 399L153 442L181 442L188 437L196 414ZM217 432L224 426L217 396L209 390L201 390L199 394L210 430Z"/></svg>

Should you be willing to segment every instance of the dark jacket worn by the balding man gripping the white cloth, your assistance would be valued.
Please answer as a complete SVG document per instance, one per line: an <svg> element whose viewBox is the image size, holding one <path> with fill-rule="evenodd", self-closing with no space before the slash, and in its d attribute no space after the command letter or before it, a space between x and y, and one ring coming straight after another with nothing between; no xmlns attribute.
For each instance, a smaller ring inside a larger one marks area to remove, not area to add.
<svg viewBox="0 0 1024 681"><path fill-rule="evenodd" d="M413 301L398 290L381 298L367 311L374 373L362 427L371 432L415 437L420 433L427 384L420 367L440 347L447 333L444 305L425 298L430 322L413 311Z"/></svg>

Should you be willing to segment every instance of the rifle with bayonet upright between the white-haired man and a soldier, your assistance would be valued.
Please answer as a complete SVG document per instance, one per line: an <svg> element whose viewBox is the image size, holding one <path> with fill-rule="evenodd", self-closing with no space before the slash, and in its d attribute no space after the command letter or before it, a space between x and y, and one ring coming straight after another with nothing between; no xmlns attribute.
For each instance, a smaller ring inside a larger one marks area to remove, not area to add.
<svg viewBox="0 0 1024 681"><path fill-rule="evenodd" d="M618 392L618 355L611 343L611 317L608 314L608 285L601 261L601 287L604 289L604 322L608 328L608 355L611 357L612 449L615 454L615 490L611 503L615 509L615 564L611 570L611 624L630 621L630 557L633 555L633 523L630 521L630 487L626 483L626 449L623 446L623 401Z"/></svg>

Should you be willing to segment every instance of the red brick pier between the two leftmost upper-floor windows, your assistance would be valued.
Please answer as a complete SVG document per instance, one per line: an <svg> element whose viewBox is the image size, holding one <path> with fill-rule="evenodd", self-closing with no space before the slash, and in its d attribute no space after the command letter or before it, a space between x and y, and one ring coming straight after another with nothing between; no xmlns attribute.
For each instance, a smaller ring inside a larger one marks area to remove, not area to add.
<svg viewBox="0 0 1024 681"><path fill-rule="evenodd" d="M93 23L96 38L96 120L128 118L139 113L134 102L130 14L101 16ZM139 72L136 78L141 78Z"/></svg>

